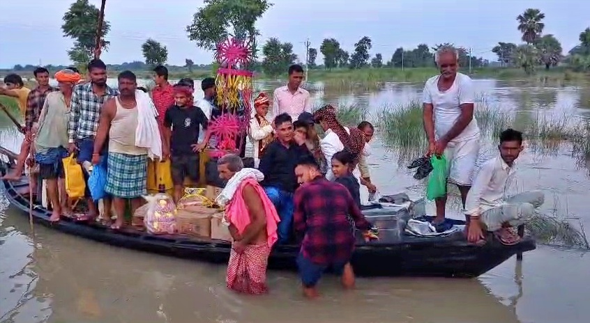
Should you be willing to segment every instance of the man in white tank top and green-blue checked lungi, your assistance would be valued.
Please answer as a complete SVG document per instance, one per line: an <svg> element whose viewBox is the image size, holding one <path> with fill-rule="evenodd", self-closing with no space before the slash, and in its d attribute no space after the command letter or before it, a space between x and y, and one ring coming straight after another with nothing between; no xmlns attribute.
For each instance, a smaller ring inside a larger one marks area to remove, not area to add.
<svg viewBox="0 0 590 323"><path fill-rule="evenodd" d="M111 228L114 230L123 226L125 200L131 200L133 213L141 205L142 196L147 193L148 156L146 148L136 145L135 132L141 122L135 97L137 78L133 72L123 71L118 80L121 94L107 100L100 111L100 125L92 154L93 164L98 164L99 152L108 136L105 191L113 196L116 221Z"/></svg>

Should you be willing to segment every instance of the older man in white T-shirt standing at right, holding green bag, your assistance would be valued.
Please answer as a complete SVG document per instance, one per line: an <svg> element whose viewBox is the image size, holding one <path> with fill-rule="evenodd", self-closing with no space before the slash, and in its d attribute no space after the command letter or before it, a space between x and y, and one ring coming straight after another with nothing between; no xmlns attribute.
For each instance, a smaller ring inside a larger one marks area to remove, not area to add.
<svg viewBox="0 0 590 323"><path fill-rule="evenodd" d="M457 185L465 207L479 152L474 85L471 78L457 72L457 49L442 47L434 57L441 74L426 81L423 93L424 130L429 143L427 155L446 157L448 182ZM451 226L444 221L446 196L437 198L435 203L437 216L432 224L442 232Z"/></svg>

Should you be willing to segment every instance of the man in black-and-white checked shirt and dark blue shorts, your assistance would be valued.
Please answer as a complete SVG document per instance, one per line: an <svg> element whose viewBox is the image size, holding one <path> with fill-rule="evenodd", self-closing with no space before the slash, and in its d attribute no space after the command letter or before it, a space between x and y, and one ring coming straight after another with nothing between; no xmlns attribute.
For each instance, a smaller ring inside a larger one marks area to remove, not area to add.
<svg viewBox="0 0 590 323"><path fill-rule="evenodd" d="M90 165L94 149L94 137L100 120L100 110L103 103L111 97L119 95L115 88L107 86L107 65L100 59L93 59L88 64L90 83L75 86L70 104L70 123L68 125L68 150L77 152L77 161L80 164ZM104 147L106 148L106 147ZM106 151L103 149L103 151ZM83 167L85 168L85 167ZM89 174L84 173L84 180L88 180ZM93 201L88 185L86 185L86 199L89 212L80 216L78 221L93 221L98 216L98 210ZM110 220L111 202L105 198L104 219Z"/></svg>

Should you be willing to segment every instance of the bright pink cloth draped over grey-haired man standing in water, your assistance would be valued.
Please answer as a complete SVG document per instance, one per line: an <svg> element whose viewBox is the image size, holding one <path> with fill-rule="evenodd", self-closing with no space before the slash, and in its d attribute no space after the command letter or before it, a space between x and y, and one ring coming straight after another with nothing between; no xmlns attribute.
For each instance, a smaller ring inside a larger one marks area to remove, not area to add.
<svg viewBox="0 0 590 323"><path fill-rule="evenodd" d="M244 232L245 227L250 224L250 214L248 214L248 207L245 204L242 190L246 184L252 185L260 199L262 200L262 206L264 207L264 213L266 214L266 235L268 235L268 248L272 248L273 244L278 240L277 234L277 223L280 221L278 217L275 205L266 196L266 192L255 178L245 178L239 185L238 191L234 194L232 200L229 201L225 208L225 216L227 221L232 223L240 235Z"/></svg>

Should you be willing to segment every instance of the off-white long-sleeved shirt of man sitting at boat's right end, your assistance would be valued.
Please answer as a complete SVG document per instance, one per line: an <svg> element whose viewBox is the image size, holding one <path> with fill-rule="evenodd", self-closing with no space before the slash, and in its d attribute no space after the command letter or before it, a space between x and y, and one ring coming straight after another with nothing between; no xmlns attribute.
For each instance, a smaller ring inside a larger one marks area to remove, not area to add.
<svg viewBox="0 0 590 323"><path fill-rule="evenodd" d="M499 155L486 161L467 194L466 213L480 215L504 203L508 187L514 183L516 169L515 164L508 166Z"/></svg>

